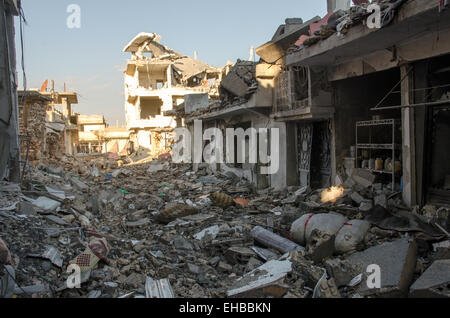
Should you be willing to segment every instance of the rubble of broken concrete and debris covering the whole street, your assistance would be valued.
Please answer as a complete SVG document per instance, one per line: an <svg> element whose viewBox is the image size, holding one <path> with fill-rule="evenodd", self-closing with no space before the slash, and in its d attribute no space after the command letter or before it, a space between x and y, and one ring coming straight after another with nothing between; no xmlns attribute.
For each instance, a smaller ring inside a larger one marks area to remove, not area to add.
<svg viewBox="0 0 450 318"><path fill-rule="evenodd" d="M1 297L450 296L449 211L406 213L371 175L330 197L142 162L64 156L0 184Z"/></svg>

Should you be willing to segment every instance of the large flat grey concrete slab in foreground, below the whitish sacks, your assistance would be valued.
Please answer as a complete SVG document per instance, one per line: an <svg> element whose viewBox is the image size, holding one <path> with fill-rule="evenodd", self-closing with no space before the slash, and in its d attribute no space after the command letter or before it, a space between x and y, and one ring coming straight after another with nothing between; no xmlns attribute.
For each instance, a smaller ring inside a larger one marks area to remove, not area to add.
<svg viewBox="0 0 450 318"><path fill-rule="evenodd" d="M417 263L417 244L402 238L355 253L347 258L352 265L366 273L369 265L381 270L381 288L369 288L363 281L358 293L362 296L406 297Z"/></svg>

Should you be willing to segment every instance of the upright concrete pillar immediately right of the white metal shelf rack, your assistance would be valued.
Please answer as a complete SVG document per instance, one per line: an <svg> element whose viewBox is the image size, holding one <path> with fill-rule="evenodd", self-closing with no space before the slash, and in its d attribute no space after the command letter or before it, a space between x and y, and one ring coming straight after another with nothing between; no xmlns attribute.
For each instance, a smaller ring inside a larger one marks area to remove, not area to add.
<svg viewBox="0 0 450 318"><path fill-rule="evenodd" d="M411 65L400 68L402 82L402 105L414 103L412 90L414 89L413 71ZM409 72L409 74L408 74ZM408 74L408 75L407 75ZM402 158L403 158L403 201L408 207L416 205L416 149L414 129L414 108L402 108Z"/></svg>

